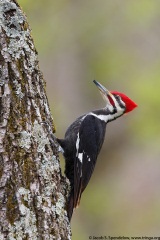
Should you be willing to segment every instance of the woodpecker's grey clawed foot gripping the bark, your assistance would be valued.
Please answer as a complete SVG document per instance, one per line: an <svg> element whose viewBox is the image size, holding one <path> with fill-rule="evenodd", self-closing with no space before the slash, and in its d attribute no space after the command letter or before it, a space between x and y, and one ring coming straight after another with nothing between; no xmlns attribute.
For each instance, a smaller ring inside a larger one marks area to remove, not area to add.
<svg viewBox="0 0 160 240"><path fill-rule="evenodd" d="M49 137L52 150L56 148L58 152L61 152L63 154L64 150L58 141L59 139L53 134L50 124L47 121L41 122L41 123L45 124L45 126L47 127L48 137Z"/></svg>

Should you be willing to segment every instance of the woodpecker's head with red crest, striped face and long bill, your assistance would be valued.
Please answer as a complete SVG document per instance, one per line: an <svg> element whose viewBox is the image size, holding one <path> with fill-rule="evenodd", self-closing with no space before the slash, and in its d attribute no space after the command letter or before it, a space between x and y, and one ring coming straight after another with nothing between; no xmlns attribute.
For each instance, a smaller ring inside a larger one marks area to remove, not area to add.
<svg viewBox="0 0 160 240"><path fill-rule="evenodd" d="M100 90L100 93L107 104L107 108L111 110L116 109L117 113L121 113L120 115L123 115L124 113L128 113L137 107L137 104L125 94L117 91L108 91L96 80L93 80L93 82Z"/></svg>

